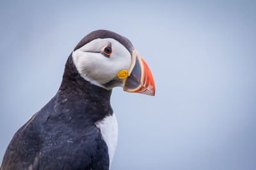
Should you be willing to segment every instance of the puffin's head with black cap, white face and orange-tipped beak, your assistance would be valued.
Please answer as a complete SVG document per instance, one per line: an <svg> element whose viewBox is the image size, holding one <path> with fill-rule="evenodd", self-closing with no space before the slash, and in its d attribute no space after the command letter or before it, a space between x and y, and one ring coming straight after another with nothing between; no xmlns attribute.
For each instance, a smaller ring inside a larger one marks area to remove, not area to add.
<svg viewBox="0 0 256 170"><path fill-rule="evenodd" d="M76 46L72 59L81 77L94 85L155 94L154 79L146 62L127 38L115 32L91 32Z"/></svg>

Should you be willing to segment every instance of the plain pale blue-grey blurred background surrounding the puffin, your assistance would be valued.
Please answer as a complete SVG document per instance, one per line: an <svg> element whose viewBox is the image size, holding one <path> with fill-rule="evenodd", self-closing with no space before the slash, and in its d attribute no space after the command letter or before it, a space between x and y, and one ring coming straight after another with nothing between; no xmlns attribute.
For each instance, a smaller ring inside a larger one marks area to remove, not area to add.
<svg viewBox="0 0 256 170"><path fill-rule="evenodd" d="M0 162L97 29L131 40L156 96L113 90L112 169L256 169L255 1L1 1Z"/></svg>

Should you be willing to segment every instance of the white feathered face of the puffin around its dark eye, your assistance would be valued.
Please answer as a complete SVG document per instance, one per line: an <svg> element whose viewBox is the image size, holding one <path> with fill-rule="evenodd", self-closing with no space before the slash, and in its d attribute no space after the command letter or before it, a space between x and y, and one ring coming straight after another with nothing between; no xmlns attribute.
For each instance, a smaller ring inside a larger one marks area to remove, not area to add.
<svg viewBox="0 0 256 170"><path fill-rule="evenodd" d="M108 58L101 52L109 42L113 52ZM79 74L100 87L116 79L116 74L123 69L128 70L131 64L131 53L121 43L111 38L95 39L74 51L72 57Z"/></svg>

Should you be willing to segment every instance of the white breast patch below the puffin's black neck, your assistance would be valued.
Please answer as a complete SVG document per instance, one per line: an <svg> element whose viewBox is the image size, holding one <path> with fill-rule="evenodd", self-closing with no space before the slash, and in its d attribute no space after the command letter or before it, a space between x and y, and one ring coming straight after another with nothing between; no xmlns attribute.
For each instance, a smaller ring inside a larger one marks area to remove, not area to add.
<svg viewBox="0 0 256 170"><path fill-rule="evenodd" d="M117 143L117 137L118 137L118 127L117 127L115 113L113 113L112 116L108 116L103 120L101 120L100 122L97 122L95 125L100 129L102 138L104 139L104 141L108 146L109 169L110 169L110 165L116 150L116 143Z"/></svg>

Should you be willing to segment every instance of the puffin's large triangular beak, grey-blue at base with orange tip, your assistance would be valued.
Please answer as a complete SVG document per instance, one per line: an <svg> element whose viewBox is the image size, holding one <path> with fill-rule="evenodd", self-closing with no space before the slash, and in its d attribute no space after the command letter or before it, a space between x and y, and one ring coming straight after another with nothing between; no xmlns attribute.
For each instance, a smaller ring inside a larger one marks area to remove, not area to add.
<svg viewBox="0 0 256 170"><path fill-rule="evenodd" d="M124 91L155 96L155 83L152 73L136 50L132 52L131 66L127 71Z"/></svg>

